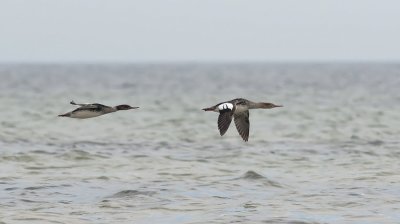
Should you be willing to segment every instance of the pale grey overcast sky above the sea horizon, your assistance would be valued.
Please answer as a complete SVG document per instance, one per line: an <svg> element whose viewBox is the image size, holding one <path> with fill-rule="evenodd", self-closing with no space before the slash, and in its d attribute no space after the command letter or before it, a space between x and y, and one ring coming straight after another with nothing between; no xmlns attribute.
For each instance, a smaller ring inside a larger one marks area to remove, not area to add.
<svg viewBox="0 0 400 224"><path fill-rule="evenodd" d="M399 60L399 0L0 0L0 62Z"/></svg>

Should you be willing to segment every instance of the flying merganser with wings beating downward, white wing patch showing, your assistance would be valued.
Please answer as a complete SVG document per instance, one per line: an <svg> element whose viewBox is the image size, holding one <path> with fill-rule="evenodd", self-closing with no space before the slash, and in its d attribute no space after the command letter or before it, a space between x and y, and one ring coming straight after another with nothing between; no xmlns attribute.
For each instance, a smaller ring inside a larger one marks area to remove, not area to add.
<svg viewBox="0 0 400 224"><path fill-rule="evenodd" d="M273 103L255 103L250 100L237 98L234 100L219 103L215 106L204 108L204 111L219 112L218 130L223 136L231 124L232 117L235 119L236 129L242 139L247 142L249 140L249 110L250 109L271 109L274 107L282 107Z"/></svg>

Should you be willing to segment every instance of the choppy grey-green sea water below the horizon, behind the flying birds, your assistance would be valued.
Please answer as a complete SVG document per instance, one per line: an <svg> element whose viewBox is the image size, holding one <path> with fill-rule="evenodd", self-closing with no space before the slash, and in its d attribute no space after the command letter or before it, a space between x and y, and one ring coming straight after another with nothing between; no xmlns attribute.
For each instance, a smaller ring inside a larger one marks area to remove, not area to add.
<svg viewBox="0 0 400 224"><path fill-rule="evenodd" d="M399 223L400 65L1 65L0 223ZM250 140L201 108L244 97ZM88 120L76 102L130 104Z"/></svg>

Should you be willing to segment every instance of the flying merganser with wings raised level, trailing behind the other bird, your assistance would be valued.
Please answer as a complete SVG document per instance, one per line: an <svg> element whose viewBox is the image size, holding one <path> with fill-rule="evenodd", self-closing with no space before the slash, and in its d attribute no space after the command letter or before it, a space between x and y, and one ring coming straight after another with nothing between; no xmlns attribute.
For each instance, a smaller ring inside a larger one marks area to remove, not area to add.
<svg viewBox="0 0 400 224"><path fill-rule="evenodd" d="M109 107L109 106L105 106L105 105L98 104L98 103L81 103L81 104L79 104L79 103L75 103L74 101L71 101L70 104L77 105L80 107L71 112L68 112L65 114L60 114L60 115L58 115L59 117L85 119L85 118L97 117L97 116L101 116L104 114L117 112L119 110L130 110L130 109L139 108L139 107L131 107L126 104L118 105L115 107Z"/></svg>

